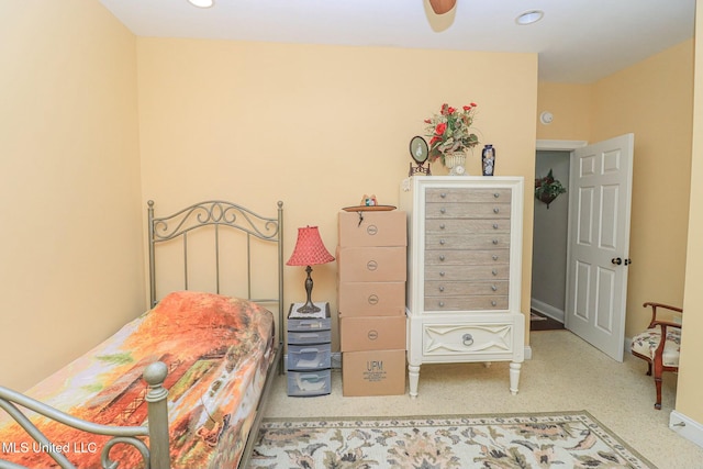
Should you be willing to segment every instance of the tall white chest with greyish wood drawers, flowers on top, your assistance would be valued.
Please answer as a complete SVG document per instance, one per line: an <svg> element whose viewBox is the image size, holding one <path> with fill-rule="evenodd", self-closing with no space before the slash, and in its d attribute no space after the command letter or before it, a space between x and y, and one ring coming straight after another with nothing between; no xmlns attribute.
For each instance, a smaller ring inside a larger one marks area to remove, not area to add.
<svg viewBox="0 0 703 469"><path fill-rule="evenodd" d="M401 186L408 212L408 370L511 361L517 393L524 360L520 311L522 177L414 176Z"/></svg>

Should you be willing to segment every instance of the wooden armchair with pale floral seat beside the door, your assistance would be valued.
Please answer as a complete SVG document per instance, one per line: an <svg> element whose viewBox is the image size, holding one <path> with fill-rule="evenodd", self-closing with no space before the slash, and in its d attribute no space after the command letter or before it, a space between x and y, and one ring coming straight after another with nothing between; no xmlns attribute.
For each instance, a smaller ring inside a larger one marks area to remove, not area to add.
<svg viewBox="0 0 703 469"><path fill-rule="evenodd" d="M647 376L651 376L654 367L657 402L655 409L661 409L661 373L679 371L679 350L681 349L681 316L683 310L662 303L646 302L644 308L651 308L651 322L647 331L633 338L632 353L647 361ZM657 308L667 310L657 317ZM667 315L666 320L661 316ZM661 340L661 337L666 337Z"/></svg>

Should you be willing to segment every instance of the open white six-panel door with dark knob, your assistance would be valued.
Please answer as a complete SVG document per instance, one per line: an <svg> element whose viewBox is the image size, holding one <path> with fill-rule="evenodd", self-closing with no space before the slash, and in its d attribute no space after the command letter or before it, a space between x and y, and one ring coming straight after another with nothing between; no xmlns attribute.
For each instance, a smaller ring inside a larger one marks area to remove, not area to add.
<svg viewBox="0 0 703 469"><path fill-rule="evenodd" d="M633 134L578 148L569 180L565 325L623 361Z"/></svg>

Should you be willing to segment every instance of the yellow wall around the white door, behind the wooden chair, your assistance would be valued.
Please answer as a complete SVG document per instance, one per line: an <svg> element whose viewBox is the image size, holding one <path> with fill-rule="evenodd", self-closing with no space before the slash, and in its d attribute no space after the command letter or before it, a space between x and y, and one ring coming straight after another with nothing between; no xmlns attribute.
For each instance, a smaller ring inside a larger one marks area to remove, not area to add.
<svg viewBox="0 0 703 469"><path fill-rule="evenodd" d="M627 337L649 322L645 301L683 301L692 80L693 41L687 41L592 85L539 83L538 112L553 111L555 120L538 124L537 138L635 134Z"/></svg>

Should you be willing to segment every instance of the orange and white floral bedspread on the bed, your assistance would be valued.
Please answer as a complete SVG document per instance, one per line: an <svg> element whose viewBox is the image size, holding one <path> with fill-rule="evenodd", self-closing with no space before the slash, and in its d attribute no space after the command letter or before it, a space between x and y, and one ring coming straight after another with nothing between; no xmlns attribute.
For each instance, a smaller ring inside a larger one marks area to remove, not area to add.
<svg viewBox="0 0 703 469"><path fill-rule="evenodd" d="M77 417L107 425L143 425L144 368L168 366L171 467L235 468L274 357L274 316L246 300L176 292L115 335L26 392ZM32 415L31 412L27 414ZM79 468L100 468L102 444L33 415L32 421ZM57 467L0 410L0 459L33 469ZM137 451L116 445L121 468L141 467Z"/></svg>

